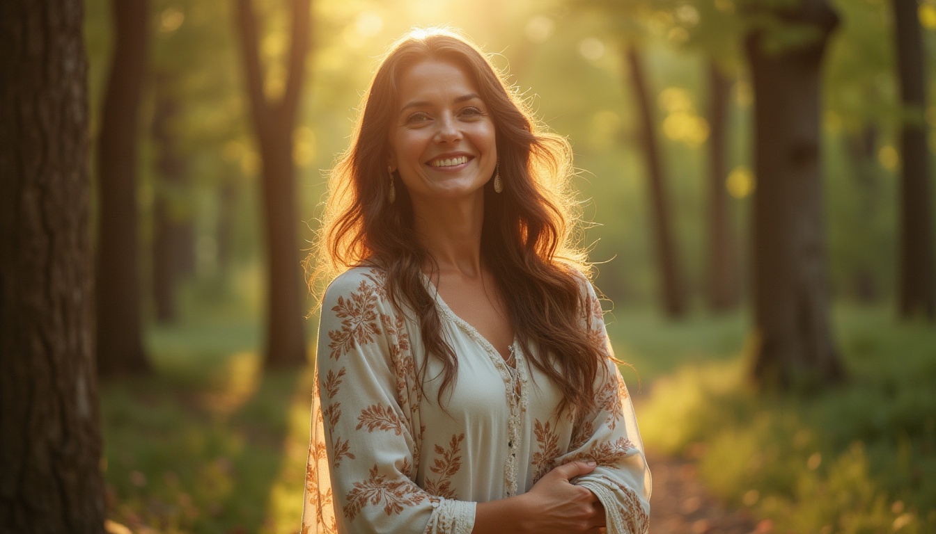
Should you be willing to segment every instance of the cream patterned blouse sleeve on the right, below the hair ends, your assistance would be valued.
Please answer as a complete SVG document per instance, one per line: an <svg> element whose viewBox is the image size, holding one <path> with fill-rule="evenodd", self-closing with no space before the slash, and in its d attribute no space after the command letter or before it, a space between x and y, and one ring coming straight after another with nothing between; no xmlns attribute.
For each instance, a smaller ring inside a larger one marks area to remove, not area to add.
<svg viewBox="0 0 936 534"><path fill-rule="evenodd" d="M592 284L582 283L582 322L605 347L607 358L596 377L594 410L576 418L569 452L556 458L556 464L595 461L598 466L574 483L592 490L601 500L607 514L607 534L644 534L650 528L650 469L634 406L612 359L601 304Z"/></svg>

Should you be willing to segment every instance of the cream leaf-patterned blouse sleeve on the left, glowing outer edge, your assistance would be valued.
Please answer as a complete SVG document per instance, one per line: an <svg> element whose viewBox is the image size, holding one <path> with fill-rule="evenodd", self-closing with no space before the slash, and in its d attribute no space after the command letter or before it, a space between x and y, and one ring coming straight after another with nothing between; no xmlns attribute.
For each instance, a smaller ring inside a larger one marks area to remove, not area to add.
<svg viewBox="0 0 936 534"><path fill-rule="evenodd" d="M376 271L329 286L319 324L301 533L468 534L475 503L413 482L422 423L406 325Z"/></svg>

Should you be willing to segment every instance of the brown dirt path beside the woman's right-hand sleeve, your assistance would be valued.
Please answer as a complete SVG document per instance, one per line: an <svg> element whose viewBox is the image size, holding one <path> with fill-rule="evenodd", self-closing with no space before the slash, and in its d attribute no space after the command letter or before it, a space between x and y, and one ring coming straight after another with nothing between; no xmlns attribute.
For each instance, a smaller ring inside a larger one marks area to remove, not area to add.
<svg viewBox="0 0 936 534"><path fill-rule="evenodd" d="M648 452L653 474L650 534L768 534L772 525L755 524L743 510L729 510L711 498L695 464Z"/></svg>

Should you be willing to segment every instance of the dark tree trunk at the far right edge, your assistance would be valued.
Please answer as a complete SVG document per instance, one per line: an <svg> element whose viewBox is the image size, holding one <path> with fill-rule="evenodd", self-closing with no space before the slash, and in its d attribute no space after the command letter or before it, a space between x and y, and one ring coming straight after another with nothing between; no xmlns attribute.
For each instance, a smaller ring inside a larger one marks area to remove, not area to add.
<svg viewBox="0 0 936 534"><path fill-rule="evenodd" d="M894 0L894 34L900 100L900 316L936 319L936 264L933 262L932 197L927 154L927 108L923 40L915 0Z"/></svg>

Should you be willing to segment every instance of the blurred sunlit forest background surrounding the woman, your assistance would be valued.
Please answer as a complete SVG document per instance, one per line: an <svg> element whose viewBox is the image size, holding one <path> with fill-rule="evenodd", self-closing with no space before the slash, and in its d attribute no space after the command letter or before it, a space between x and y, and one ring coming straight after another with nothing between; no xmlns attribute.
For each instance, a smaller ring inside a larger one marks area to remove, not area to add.
<svg viewBox="0 0 936 534"><path fill-rule="evenodd" d="M116 5L84 22L110 532L299 527L300 262L380 55L436 24L574 147L651 460L706 488L651 532L936 531L936 2Z"/></svg>

